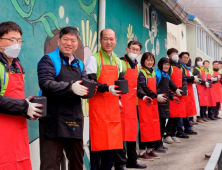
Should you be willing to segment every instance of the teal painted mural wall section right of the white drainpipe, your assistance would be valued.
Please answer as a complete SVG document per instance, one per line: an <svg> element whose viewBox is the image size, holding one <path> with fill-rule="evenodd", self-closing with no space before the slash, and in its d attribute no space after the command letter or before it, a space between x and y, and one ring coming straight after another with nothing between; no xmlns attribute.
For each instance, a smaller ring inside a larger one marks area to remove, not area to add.
<svg viewBox="0 0 222 170"><path fill-rule="evenodd" d="M156 33L151 33L150 30L143 27L143 0L109 0L106 1L106 28L112 28L117 32L117 45L114 49L115 53L122 57L126 51L130 37L139 40L142 45L142 51L146 48L152 52L154 47L155 57L158 61L160 58L166 56L165 39L167 39L166 18L159 11L150 7L150 13L153 12L151 19L151 26ZM129 24L132 26L132 31L128 31ZM132 34L133 35L132 35ZM150 36L153 35L153 36ZM151 40L154 39L154 45ZM146 41L149 41L145 46ZM159 41L159 53L156 50L157 42ZM157 62L156 62L157 63Z"/></svg>

